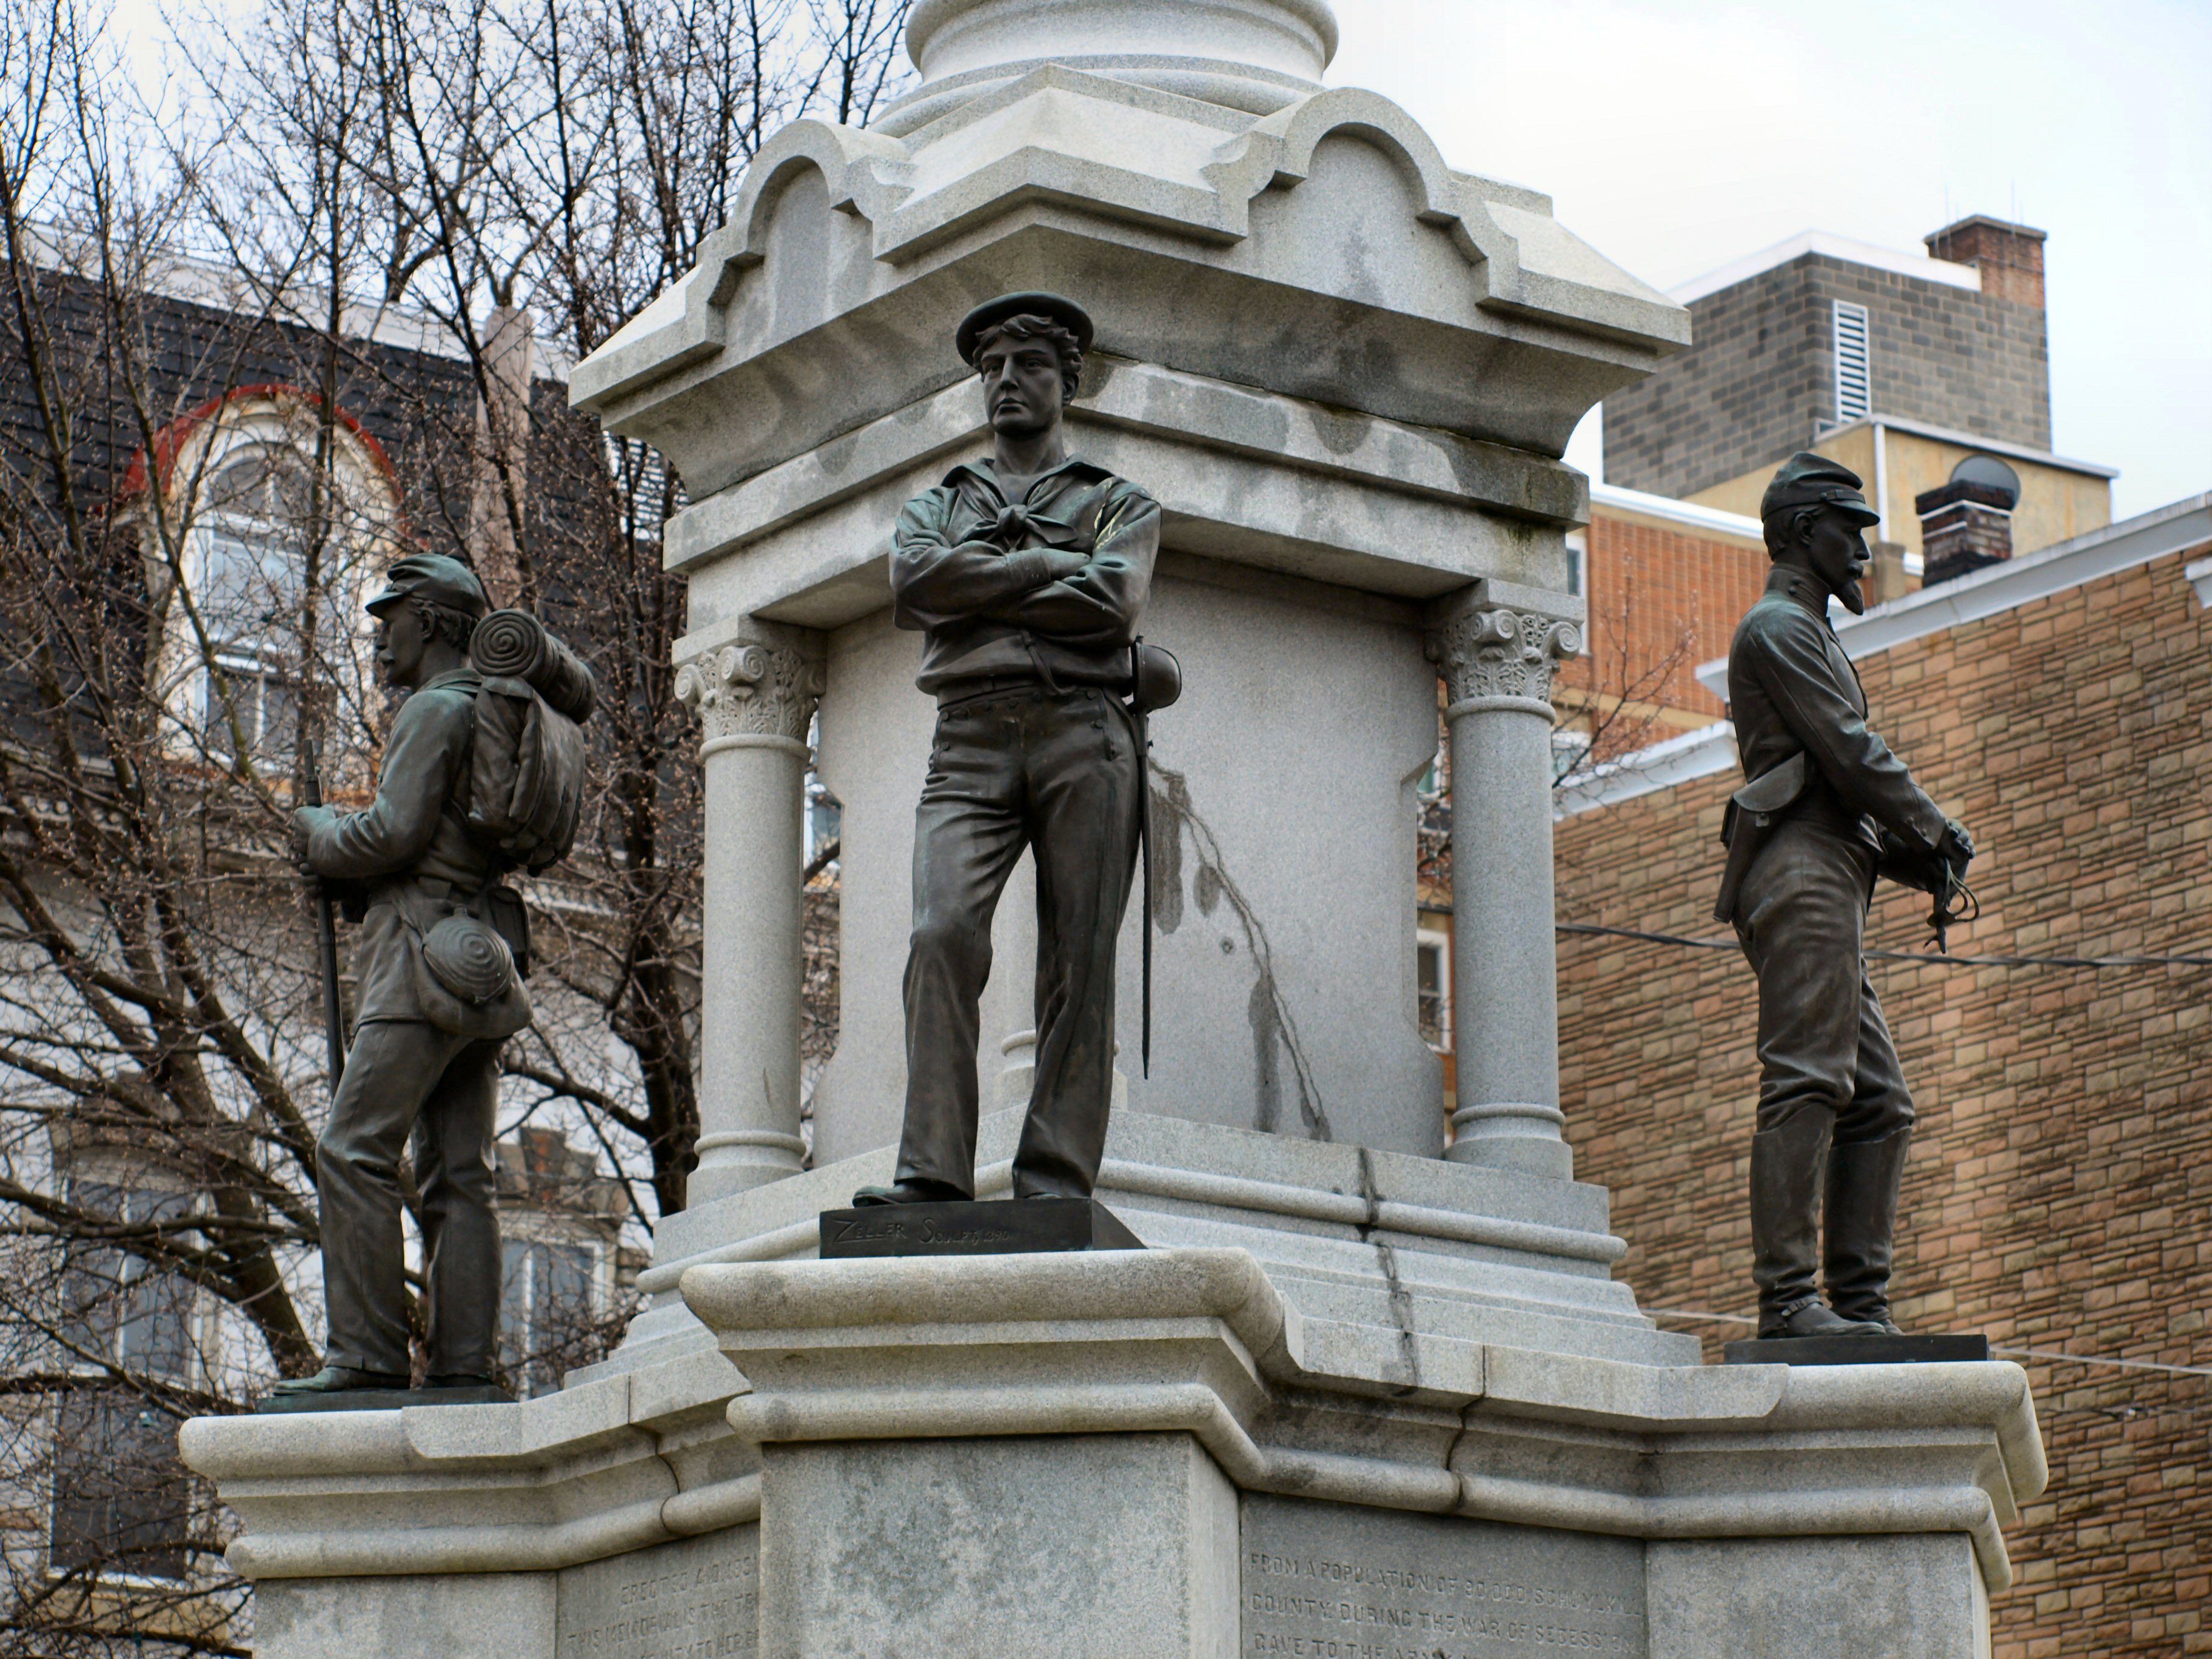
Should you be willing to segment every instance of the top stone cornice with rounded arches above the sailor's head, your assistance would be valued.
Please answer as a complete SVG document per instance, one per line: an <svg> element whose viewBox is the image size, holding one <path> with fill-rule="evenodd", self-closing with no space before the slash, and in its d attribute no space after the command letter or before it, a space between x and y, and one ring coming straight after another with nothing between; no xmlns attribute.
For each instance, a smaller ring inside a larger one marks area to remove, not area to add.
<svg viewBox="0 0 2212 1659"><path fill-rule="evenodd" d="M1409 257L1316 259L1323 223ZM785 241L805 268L770 257ZM1546 197L1453 170L1387 97L1316 88L1254 117L1040 64L902 137L776 133L699 265L575 367L573 400L703 500L958 378L951 319L1040 268L1124 356L1540 453L1688 343L1688 314ZM1250 327L1208 321L1259 303ZM1354 316L1374 343L1347 354Z"/></svg>

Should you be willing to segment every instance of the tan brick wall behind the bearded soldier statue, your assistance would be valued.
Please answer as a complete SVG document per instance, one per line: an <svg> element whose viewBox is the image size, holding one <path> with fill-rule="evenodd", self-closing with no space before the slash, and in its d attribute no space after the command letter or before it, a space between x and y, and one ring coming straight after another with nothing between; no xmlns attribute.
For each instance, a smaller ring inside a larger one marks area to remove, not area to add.
<svg viewBox="0 0 2212 1659"><path fill-rule="evenodd" d="M2174 555L1860 664L1984 847L1966 953L2212 947L2212 626ZM1712 938L1714 776L1557 827L1559 918ZM1885 889L1871 945L1918 949ZM2002 1347L2212 1365L2212 971L1876 964L1920 1108L1898 1312ZM1559 940L1575 1172L1646 1307L1752 1312L1741 958ZM1683 1321L1668 1321L1688 1327ZM1717 1343L1741 1327L1697 1327ZM2008 1535L1997 1655L2212 1652L2208 1378L2024 1360L2051 1489ZM2203 1480L2201 1480L2203 1471Z"/></svg>

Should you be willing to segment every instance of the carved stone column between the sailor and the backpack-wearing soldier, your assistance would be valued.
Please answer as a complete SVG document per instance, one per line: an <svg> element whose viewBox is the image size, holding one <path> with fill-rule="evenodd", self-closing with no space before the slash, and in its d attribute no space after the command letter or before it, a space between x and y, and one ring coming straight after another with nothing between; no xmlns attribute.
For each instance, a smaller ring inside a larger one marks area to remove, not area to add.
<svg viewBox="0 0 2212 1659"><path fill-rule="evenodd" d="M799 630L745 619L712 635L681 641L697 655L677 668L677 697L699 710L706 770L692 1206L796 1175L805 1161L801 814L807 728L823 692Z"/></svg>

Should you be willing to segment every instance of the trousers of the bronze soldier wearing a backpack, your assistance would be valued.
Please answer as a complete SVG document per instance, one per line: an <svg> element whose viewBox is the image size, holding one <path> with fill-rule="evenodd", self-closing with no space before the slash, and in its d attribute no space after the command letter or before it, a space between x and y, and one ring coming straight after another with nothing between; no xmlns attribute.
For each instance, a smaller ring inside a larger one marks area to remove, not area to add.
<svg viewBox="0 0 2212 1659"><path fill-rule="evenodd" d="M422 1201L431 1376L482 1376L500 1316L493 1133L500 1044L418 1020L354 1033L330 1126L314 1148L323 1201L330 1365L407 1371L400 1148L414 1135Z"/></svg>

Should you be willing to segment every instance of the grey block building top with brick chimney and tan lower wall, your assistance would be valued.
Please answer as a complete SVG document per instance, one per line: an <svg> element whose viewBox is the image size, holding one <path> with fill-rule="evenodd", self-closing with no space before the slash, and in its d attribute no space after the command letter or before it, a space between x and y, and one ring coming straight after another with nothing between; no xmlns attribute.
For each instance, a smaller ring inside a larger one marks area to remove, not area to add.
<svg viewBox="0 0 2212 1659"><path fill-rule="evenodd" d="M2112 469L2051 451L2044 232L1973 217L1927 248L1805 232L1677 288L1692 345L1606 398L1606 480L1756 513L1774 467L1818 449L1913 571L1913 498L1975 458L2015 476L2015 551L2108 524Z"/></svg>

